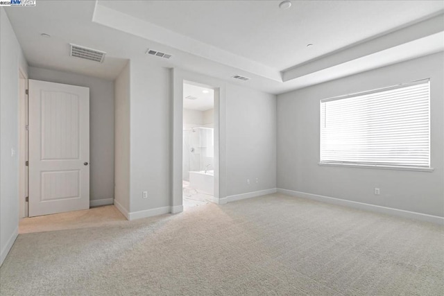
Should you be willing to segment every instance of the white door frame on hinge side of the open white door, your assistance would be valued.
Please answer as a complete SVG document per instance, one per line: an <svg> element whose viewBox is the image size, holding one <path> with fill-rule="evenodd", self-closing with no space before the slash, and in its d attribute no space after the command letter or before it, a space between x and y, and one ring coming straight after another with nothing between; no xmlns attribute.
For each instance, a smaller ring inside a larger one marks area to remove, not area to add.
<svg viewBox="0 0 444 296"><path fill-rule="evenodd" d="M28 196L28 75L26 71L19 67L19 218L28 217L28 202L26 197Z"/></svg>

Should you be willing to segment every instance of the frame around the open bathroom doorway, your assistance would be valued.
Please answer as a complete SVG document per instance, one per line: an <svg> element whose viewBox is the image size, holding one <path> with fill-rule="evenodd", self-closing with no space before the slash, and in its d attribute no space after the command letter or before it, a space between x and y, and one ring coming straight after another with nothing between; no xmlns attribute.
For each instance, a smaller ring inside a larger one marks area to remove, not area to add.
<svg viewBox="0 0 444 296"><path fill-rule="evenodd" d="M171 213L183 211L182 204L182 152L183 152L183 84L192 82L214 89L214 198L212 202L226 201L226 151L225 151L225 82L181 69L171 69L173 80L171 163Z"/></svg>

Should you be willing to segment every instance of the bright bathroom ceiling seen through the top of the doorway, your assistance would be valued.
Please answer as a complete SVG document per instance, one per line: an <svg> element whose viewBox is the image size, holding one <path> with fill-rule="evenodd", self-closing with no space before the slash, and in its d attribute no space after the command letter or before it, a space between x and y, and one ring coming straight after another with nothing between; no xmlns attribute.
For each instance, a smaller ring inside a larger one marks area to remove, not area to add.
<svg viewBox="0 0 444 296"><path fill-rule="evenodd" d="M190 100L187 97L191 97ZM183 107L185 109L206 111L214 108L214 89L189 83L183 84Z"/></svg>

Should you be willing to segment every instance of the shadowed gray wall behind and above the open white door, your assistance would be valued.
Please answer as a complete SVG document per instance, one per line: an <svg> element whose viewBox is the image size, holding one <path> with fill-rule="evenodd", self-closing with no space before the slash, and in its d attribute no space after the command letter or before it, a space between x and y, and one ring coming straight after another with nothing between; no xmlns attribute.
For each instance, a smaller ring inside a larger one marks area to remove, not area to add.
<svg viewBox="0 0 444 296"><path fill-rule="evenodd" d="M35 67L29 78L89 87L90 200L114 198L114 82Z"/></svg>

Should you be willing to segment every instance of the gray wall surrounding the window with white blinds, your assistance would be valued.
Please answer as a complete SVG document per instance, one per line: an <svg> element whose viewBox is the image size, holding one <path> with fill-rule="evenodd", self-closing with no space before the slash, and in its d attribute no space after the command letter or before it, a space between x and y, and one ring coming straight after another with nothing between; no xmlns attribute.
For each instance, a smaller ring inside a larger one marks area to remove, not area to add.
<svg viewBox="0 0 444 296"><path fill-rule="evenodd" d="M278 188L444 216L443 64L441 52L279 95ZM431 80L434 172L318 166L319 100L423 78Z"/></svg>

